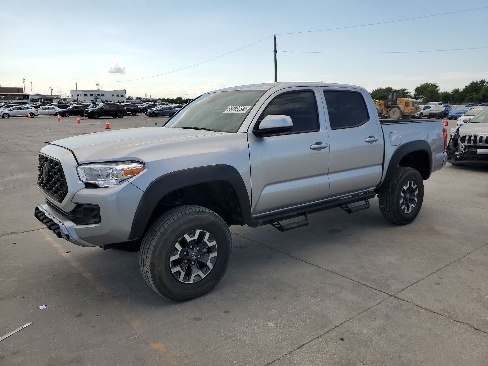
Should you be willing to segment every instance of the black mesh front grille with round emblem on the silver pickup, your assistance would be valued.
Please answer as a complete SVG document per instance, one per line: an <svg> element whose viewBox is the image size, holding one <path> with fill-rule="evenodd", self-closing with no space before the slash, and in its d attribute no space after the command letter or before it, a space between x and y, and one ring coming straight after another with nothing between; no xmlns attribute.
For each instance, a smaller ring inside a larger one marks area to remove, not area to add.
<svg viewBox="0 0 488 366"><path fill-rule="evenodd" d="M39 154L38 168L38 187L57 202L61 202L68 194L61 163L56 159Z"/></svg>

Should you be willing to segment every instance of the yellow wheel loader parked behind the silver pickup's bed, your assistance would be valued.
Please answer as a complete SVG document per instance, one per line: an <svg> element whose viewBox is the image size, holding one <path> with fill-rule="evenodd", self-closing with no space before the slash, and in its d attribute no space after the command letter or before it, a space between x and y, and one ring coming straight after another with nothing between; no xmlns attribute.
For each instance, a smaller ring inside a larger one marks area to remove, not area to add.
<svg viewBox="0 0 488 366"><path fill-rule="evenodd" d="M386 96L386 101L374 101L380 118L407 120L420 111L419 102L407 98L407 92L404 90L390 90L386 92Z"/></svg>

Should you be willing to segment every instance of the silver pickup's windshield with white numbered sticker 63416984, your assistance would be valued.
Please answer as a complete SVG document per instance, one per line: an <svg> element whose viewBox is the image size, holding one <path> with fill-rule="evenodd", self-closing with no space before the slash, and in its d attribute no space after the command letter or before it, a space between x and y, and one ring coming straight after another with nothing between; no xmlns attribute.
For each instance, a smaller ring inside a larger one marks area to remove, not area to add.
<svg viewBox="0 0 488 366"><path fill-rule="evenodd" d="M205 94L187 104L166 123L167 127L199 127L237 132L265 90L232 90Z"/></svg>

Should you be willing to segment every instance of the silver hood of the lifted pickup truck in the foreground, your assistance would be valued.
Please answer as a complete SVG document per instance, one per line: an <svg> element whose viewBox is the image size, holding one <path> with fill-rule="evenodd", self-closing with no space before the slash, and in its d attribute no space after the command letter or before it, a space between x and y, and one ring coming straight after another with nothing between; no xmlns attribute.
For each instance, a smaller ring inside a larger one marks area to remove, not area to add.
<svg viewBox="0 0 488 366"><path fill-rule="evenodd" d="M139 127L103 131L68 137L50 144L65 147L75 154L79 163L107 160L138 160L154 151L155 146L172 145L188 139L222 135L221 132L171 127ZM184 143L186 145L186 143Z"/></svg>

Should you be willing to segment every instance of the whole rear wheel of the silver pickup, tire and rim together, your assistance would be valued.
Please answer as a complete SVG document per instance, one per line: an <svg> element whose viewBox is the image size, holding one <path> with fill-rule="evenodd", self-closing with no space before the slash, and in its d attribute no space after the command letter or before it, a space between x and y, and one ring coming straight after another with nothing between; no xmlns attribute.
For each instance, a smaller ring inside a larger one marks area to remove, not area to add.
<svg viewBox="0 0 488 366"><path fill-rule="evenodd" d="M424 181L418 170L399 166L378 193L380 211L392 224L410 224L424 201Z"/></svg>

